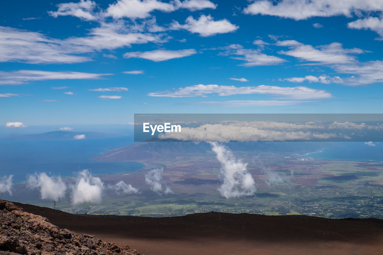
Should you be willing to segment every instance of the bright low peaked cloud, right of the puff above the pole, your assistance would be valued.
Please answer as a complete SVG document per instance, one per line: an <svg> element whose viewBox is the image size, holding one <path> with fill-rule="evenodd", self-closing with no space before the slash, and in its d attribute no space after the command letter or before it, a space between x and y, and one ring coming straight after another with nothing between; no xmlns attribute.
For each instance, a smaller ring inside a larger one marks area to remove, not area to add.
<svg viewBox="0 0 383 255"><path fill-rule="evenodd" d="M83 170L72 186L72 204L101 203L103 188L100 178L92 176L87 169Z"/></svg>

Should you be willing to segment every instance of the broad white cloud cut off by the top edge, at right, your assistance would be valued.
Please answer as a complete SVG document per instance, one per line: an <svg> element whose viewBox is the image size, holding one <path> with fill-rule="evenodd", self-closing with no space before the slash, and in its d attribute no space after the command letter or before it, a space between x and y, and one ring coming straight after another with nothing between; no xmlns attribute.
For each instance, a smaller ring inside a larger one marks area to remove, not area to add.
<svg viewBox="0 0 383 255"><path fill-rule="evenodd" d="M246 14L271 15L294 20L339 15L352 17L353 13L359 15L362 11L383 11L383 3L376 0L282 0L277 3L271 0L260 0L244 9Z"/></svg>

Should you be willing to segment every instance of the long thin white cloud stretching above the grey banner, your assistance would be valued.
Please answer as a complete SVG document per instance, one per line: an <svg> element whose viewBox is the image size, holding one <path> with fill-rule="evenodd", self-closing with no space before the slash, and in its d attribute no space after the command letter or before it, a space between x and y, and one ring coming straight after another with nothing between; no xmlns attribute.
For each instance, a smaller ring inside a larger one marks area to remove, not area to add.
<svg viewBox="0 0 383 255"><path fill-rule="evenodd" d="M317 90L308 87L278 87L260 85L257 87L235 87L209 84L198 84L185 88L178 88L175 91L152 92L148 96L160 97L190 97L190 96L206 96L206 94L218 94L219 96L238 95L238 94L268 94L275 95L280 98L294 99L322 99L331 98L331 93L326 90Z"/></svg>

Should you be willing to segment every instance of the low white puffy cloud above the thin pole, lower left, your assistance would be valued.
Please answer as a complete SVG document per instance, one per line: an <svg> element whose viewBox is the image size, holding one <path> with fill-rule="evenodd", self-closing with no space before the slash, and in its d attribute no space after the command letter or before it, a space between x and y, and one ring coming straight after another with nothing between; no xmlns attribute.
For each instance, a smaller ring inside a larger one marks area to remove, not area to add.
<svg viewBox="0 0 383 255"><path fill-rule="evenodd" d="M61 177L52 178L46 173L29 175L27 186L31 189L39 189L41 199L50 199L52 201L63 199L67 190L67 186Z"/></svg>

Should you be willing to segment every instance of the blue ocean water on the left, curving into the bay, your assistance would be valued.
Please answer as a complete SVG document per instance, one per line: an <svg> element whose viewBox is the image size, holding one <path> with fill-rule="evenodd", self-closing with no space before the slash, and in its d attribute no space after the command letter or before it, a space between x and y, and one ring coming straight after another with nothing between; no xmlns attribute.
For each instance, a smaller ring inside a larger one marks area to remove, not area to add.
<svg viewBox="0 0 383 255"><path fill-rule="evenodd" d="M20 183L27 180L28 174L35 172L69 177L83 169L95 175L137 171L144 164L90 160L102 152L132 143L130 136L54 141L0 139L0 177L13 175L13 182Z"/></svg>

